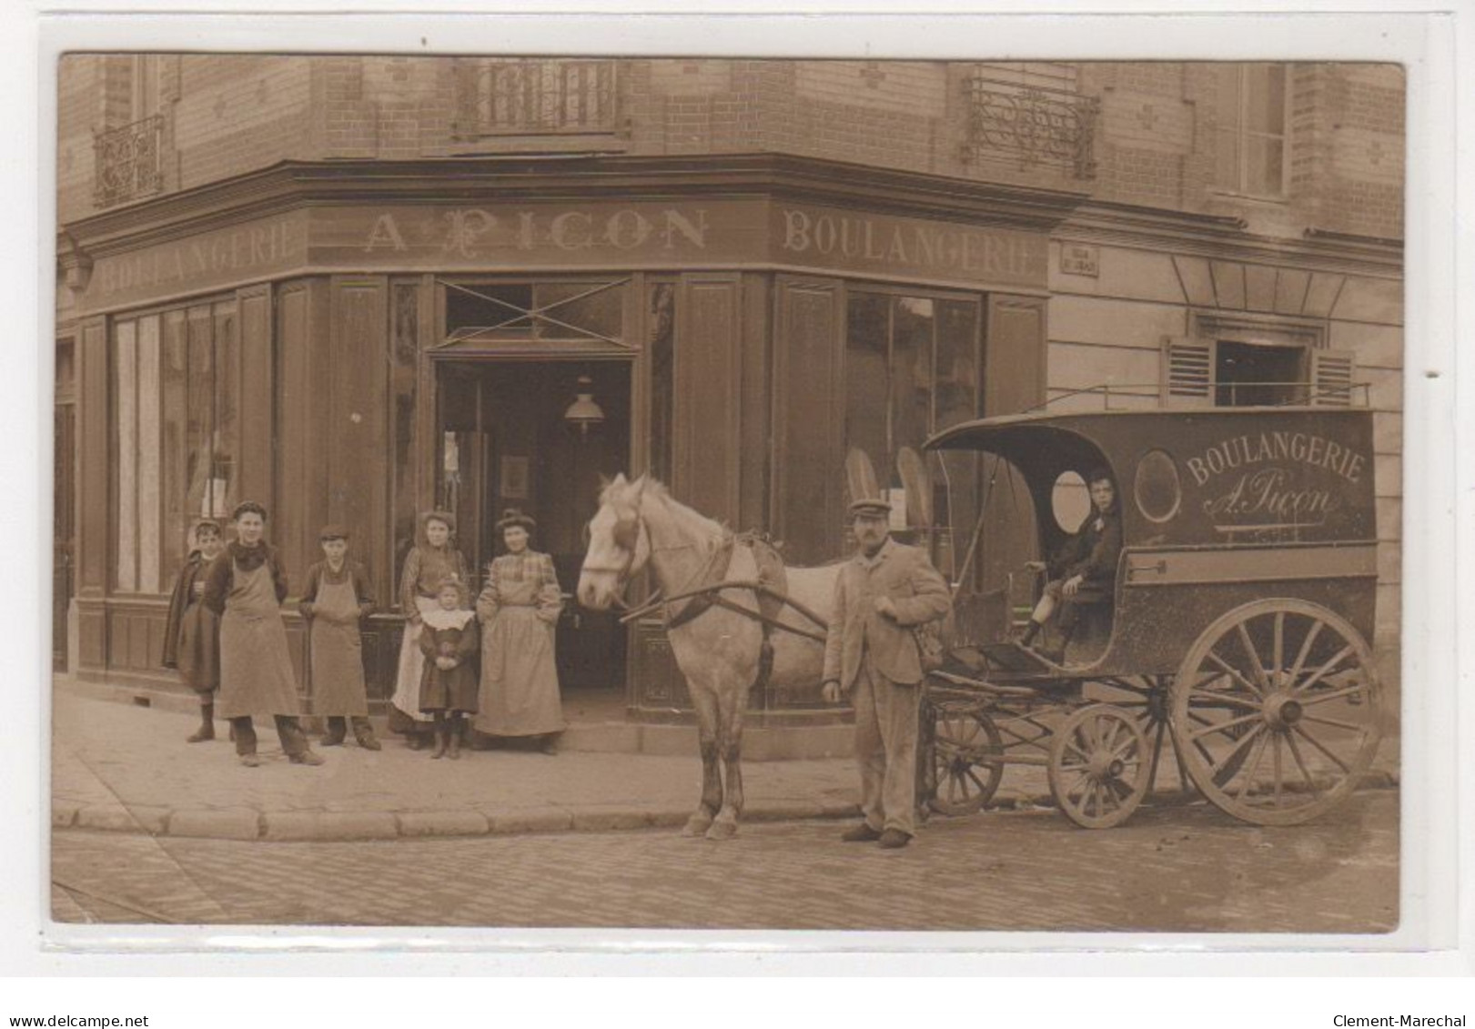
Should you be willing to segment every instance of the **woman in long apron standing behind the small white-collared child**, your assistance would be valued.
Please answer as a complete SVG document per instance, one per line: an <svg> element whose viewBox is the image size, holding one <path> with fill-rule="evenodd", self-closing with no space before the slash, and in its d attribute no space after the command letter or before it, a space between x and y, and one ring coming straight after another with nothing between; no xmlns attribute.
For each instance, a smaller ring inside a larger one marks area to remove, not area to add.
<svg viewBox="0 0 1475 1029"><path fill-rule="evenodd" d="M403 733L412 750L422 749L435 734L434 716L420 711L420 678L425 674L420 627L425 613L438 609L435 594L445 576L454 575L466 582L466 559L451 545L454 532L454 514L448 512L420 514L416 545L404 556L404 572L400 575L404 637L400 641L400 668L394 680L389 728Z"/></svg>

